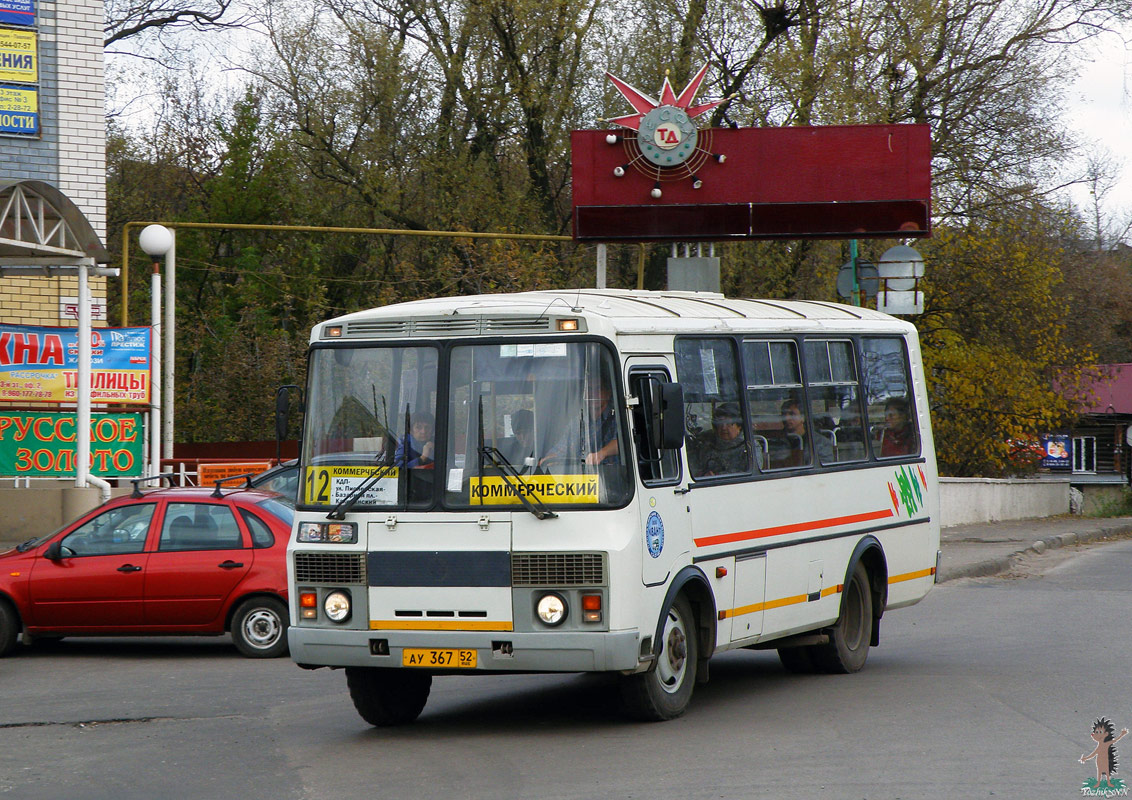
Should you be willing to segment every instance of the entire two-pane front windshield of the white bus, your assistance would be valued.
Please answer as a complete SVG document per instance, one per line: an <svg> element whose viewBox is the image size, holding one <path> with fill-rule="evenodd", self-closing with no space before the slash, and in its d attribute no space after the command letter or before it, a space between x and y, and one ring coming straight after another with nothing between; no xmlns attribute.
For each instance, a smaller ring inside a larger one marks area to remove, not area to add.
<svg viewBox="0 0 1132 800"><path fill-rule="evenodd" d="M629 448L612 355L595 342L316 349L306 505L621 506ZM438 386L447 403L438 407ZM438 439L437 437L443 439ZM438 497L438 493L440 497Z"/></svg>

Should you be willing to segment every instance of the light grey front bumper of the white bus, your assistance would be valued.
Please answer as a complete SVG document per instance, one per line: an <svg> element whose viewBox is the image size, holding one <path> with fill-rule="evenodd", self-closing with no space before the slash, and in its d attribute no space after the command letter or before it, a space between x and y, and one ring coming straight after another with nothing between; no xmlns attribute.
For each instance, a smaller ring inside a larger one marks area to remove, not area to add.
<svg viewBox="0 0 1132 800"><path fill-rule="evenodd" d="M641 665L636 630L603 633L470 633L288 629L302 666L402 666L406 647L474 650L473 670L453 672L606 672ZM412 669L412 668L410 668Z"/></svg>

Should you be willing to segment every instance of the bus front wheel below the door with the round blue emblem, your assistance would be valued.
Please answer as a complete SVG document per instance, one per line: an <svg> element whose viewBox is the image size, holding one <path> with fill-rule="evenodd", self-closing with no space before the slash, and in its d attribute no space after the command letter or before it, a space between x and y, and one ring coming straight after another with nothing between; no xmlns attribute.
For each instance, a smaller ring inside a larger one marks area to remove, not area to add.
<svg viewBox="0 0 1132 800"><path fill-rule="evenodd" d="M664 612L657 663L648 672L623 679L621 697L629 716L660 722L687 711L698 659L695 618L687 599L680 595Z"/></svg>

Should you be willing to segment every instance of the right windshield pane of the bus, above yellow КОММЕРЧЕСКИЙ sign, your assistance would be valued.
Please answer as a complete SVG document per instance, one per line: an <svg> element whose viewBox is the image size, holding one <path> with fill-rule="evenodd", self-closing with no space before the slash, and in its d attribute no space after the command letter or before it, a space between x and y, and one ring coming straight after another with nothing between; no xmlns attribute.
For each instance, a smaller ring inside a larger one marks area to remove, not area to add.
<svg viewBox="0 0 1132 800"><path fill-rule="evenodd" d="M517 505L516 491L563 507L628 499L614 362L601 345L455 346L451 372L448 506Z"/></svg>

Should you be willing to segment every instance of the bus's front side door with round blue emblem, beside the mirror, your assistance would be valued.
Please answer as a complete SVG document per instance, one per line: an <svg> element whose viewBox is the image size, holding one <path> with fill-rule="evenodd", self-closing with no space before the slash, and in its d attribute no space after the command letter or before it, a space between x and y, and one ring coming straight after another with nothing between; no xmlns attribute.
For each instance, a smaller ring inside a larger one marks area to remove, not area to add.
<svg viewBox="0 0 1132 800"><path fill-rule="evenodd" d="M661 387L672 381L663 356L627 360L633 444L640 488L641 580L663 584L687 561L692 549L687 494L680 493L680 451L659 447ZM683 427L683 420L678 421Z"/></svg>

